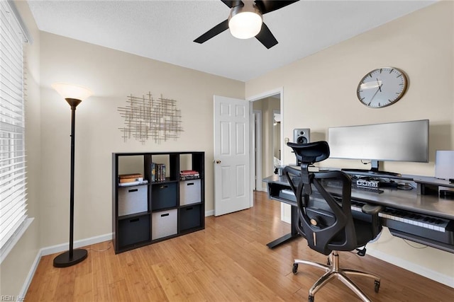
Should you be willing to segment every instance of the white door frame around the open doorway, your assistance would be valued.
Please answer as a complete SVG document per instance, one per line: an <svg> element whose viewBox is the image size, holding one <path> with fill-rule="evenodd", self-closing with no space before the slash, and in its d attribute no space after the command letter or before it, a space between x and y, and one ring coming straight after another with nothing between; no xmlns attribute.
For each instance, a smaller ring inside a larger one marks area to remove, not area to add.
<svg viewBox="0 0 454 302"><path fill-rule="evenodd" d="M283 114L282 112L284 112L284 87L279 87L279 88L275 88L275 89L272 89L270 91L266 91L266 92L263 92L263 93L259 93L257 95L252 95L248 98L245 98L245 100L247 100L249 102L249 112L250 112L250 127L249 127L249 131L253 131L253 117L252 117L252 112L253 112L253 101L255 100L260 100L262 98L267 98L269 96L272 96L272 95L277 95L279 93L280 95L280 110L281 110L281 150L284 150L284 140L282 139L282 137L284 137L284 118L283 118ZM252 137L252 133L250 133L251 137ZM252 148L252 144L253 142L251 141L250 142L250 148L249 148L249 151L252 152L253 148ZM250 155L252 158L253 154ZM281 151L281 162L284 163L284 152ZM255 182L255 162L254 161L250 161L250 183L253 184ZM252 187L252 186L250 186ZM253 190L250 190L250 206L253 207L254 205L254 191Z"/></svg>

